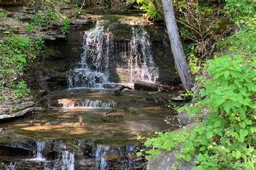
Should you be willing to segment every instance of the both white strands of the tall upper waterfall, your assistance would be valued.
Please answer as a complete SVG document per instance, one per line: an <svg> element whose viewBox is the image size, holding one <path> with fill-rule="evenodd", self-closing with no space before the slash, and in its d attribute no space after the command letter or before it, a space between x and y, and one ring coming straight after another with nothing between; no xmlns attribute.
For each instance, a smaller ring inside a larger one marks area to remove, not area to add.
<svg viewBox="0 0 256 170"><path fill-rule="evenodd" d="M84 53L77 67L68 73L69 88L100 89L106 87L106 84L127 84L135 80L157 81L158 68L153 61L150 36L144 27L130 24L131 40L126 42L125 49L122 49L124 52L118 53L119 46L112 38L114 33L109 22L109 20L98 20L95 28L85 32ZM117 62L117 58L127 61L124 67L128 70L122 70L125 73L129 72L126 82L109 81L110 75L115 74L112 73L114 70L112 67L118 65L113 64Z"/></svg>

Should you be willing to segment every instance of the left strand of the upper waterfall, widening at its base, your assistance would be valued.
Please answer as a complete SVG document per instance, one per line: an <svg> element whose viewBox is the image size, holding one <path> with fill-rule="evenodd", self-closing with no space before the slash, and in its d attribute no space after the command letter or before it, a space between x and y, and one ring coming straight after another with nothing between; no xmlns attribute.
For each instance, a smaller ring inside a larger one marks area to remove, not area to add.
<svg viewBox="0 0 256 170"><path fill-rule="evenodd" d="M108 83L111 33L104 30L102 25L104 22L104 20L98 20L94 29L85 32L84 53L78 67L68 76L69 88L103 88L103 85Z"/></svg>

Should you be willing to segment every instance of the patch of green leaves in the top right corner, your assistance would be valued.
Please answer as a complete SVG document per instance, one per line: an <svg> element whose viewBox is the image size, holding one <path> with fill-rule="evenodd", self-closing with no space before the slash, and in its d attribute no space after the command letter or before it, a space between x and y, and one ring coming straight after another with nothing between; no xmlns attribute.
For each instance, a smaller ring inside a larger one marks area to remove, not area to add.
<svg viewBox="0 0 256 170"><path fill-rule="evenodd" d="M255 15L256 2L254 0L225 0L224 7L231 21Z"/></svg>

